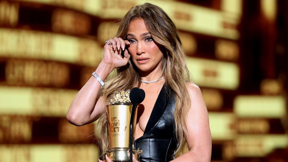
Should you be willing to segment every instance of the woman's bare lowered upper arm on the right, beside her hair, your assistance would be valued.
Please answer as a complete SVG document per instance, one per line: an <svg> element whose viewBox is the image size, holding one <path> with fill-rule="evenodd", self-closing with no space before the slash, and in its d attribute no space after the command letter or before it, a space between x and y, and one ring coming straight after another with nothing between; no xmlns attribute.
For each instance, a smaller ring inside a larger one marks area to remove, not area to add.
<svg viewBox="0 0 288 162"><path fill-rule="evenodd" d="M212 142L208 111L200 88L192 82L187 82L187 89L191 101L185 120L188 133L185 138L188 149L199 156L210 159Z"/></svg>

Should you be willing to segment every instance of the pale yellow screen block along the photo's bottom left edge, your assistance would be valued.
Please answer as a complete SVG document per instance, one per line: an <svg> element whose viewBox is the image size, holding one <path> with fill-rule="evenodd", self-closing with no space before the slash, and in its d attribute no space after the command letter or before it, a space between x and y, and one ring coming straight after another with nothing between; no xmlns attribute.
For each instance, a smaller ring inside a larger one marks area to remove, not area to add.
<svg viewBox="0 0 288 162"><path fill-rule="evenodd" d="M97 145L0 145L0 162L98 162Z"/></svg>

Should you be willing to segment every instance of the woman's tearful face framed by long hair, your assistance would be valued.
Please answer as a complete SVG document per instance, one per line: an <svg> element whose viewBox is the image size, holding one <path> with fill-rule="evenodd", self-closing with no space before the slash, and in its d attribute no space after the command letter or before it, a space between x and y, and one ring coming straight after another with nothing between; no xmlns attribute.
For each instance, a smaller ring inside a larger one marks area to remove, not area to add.
<svg viewBox="0 0 288 162"><path fill-rule="evenodd" d="M163 53L148 32L143 19L138 18L130 22L127 40L130 42L128 51L139 72L161 69Z"/></svg>

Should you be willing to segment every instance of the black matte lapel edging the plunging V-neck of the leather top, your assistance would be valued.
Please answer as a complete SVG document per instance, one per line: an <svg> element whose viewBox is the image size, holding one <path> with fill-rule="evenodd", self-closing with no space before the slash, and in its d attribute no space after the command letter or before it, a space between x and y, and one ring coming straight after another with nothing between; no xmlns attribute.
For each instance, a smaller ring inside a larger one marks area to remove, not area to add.
<svg viewBox="0 0 288 162"><path fill-rule="evenodd" d="M156 99L156 102L154 104L154 107L151 111L150 117L147 121L144 133L142 136L140 136L138 139L141 139L142 137L145 136L145 134L147 134L147 132L149 132L160 120L161 116L163 115L163 112L165 111L166 107L167 107L167 101L169 99L169 95L167 93L165 93L165 84L163 84L160 93L158 94L158 97ZM135 140L135 141L136 141Z"/></svg>

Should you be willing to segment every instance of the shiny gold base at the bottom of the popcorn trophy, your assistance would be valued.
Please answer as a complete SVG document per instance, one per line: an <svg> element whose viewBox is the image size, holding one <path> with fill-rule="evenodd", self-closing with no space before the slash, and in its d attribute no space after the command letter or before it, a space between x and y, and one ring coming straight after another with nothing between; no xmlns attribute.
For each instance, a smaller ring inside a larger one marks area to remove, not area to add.
<svg viewBox="0 0 288 162"><path fill-rule="evenodd" d="M115 148L109 148L107 151L102 155L102 160L105 160L105 155L107 155L113 162L128 162L129 161L129 155L127 151L129 148L126 147L115 147ZM142 154L142 150L133 149L133 154L135 155L136 160L139 161L140 155Z"/></svg>

